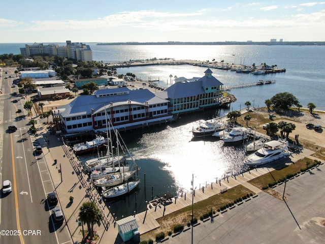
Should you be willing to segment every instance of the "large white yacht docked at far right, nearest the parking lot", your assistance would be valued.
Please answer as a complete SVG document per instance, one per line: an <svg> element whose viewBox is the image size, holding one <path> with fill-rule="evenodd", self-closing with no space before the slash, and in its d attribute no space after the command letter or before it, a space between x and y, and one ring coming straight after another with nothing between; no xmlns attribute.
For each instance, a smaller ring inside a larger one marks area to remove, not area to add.
<svg viewBox="0 0 325 244"><path fill-rule="evenodd" d="M247 156L244 164L248 166L260 166L274 162L276 160L290 156L288 141L279 139L266 142L265 145L255 151L254 154Z"/></svg>

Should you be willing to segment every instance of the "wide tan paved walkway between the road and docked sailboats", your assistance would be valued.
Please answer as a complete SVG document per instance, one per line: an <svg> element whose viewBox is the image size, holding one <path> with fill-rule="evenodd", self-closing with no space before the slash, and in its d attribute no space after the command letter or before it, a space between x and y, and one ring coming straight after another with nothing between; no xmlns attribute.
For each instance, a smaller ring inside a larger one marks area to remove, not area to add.
<svg viewBox="0 0 325 244"><path fill-rule="evenodd" d="M81 172L82 167L78 165L75 155L69 150L70 147L64 145L59 136L48 134L47 127L48 125L37 124L38 133L35 137L43 148L44 159L56 189L72 243L80 243L82 240L82 226L78 221L78 214L80 206L87 201L95 202L104 216L104 221L100 226L94 225L94 230L100 237L96 243L122 243L121 239L120 242L108 242L113 236L114 239L119 237L117 228L113 227L113 219L109 215L108 208L105 207L105 203L96 190L88 184L88 176ZM46 140L48 140L48 148ZM74 198L73 202L70 201L70 196ZM109 227L108 231L105 227ZM84 230L87 230L86 225L84 225ZM118 238L117 241L119 241Z"/></svg>

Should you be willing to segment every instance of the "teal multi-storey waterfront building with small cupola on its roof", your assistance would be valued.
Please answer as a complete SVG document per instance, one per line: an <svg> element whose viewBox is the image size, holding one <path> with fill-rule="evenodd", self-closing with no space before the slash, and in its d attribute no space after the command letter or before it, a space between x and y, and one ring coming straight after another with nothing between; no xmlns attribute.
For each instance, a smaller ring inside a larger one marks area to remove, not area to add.
<svg viewBox="0 0 325 244"><path fill-rule="evenodd" d="M205 76L196 79L183 79L168 87L157 96L168 99L169 112L173 114L192 112L205 107L221 105L222 83L207 69Z"/></svg>

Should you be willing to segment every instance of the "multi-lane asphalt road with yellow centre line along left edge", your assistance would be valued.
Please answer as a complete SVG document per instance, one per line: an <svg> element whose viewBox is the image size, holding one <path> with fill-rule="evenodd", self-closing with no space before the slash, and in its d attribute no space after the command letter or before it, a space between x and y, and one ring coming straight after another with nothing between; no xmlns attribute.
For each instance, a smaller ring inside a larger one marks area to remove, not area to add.
<svg viewBox="0 0 325 244"><path fill-rule="evenodd" d="M6 68L3 68L6 70ZM0 97L1 182L10 179L13 191L0 195L0 242L2 243L69 243L71 241L65 222L54 223L46 196L54 191L43 154L35 154L34 136L28 133L30 117L25 116L24 100L16 100L13 78L4 79ZM22 112L17 113L17 109ZM18 130L9 132L8 126ZM46 153L46 152L44 152ZM1 183L2 184L2 183ZM59 203L58 203L59 205ZM3 231L5 230L5 231Z"/></svg>

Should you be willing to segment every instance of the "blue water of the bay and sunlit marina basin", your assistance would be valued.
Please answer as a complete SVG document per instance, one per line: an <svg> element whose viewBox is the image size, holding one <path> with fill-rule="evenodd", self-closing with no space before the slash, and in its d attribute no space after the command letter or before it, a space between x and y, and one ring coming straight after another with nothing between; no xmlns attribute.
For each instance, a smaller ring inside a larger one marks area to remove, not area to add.
<svg viewBox="0 0 325 244"><path fill-rule="evenodd" d="M63 45L63 44L60 44ZM106 63L136 59L174 58L192 60L215 59L224 63L277 65L285 68L285 73L255 76L232 71L212 69L213 75L224 85L256 82L259 79L276 80L275 84L233 89L230 93L237 98L230 110L239 110L246 101L255 107L265 107L264 101L277 93L289 92L296 96L306 108L312 102L316 109L325 110L323 90L325 69L322 66L325 46L99 46L89 43L93 59ZM24 44L0 44L0 54L19 54ZM146 66L119 68L118 73L131 72L143 80L156 80L162 86L170 85L170 74L174 77L202 77L206 68L181 66ZM136 193L107 203L118 218L145 210L146 200L151 195L171 192L180 195L190 189L194 173L194 185L200 186L215 182L217 178L243 169L244 152L242 145L224 145L215 139L192 140L191 130L195 121L213 115L222 115L224 110L210 110L204 113L182 115L172 124L156 126L122 133L128 149L138 166L141 184ZM88 157L82 158L85 161ZM144 182L146 173L146 185ZM145 187L146 186L146 187ZM152 193L153 188L153 193ZM146 189L146 191L145 191ZM137 202L137 203L136 203ZM122 204L122 205L121 205ZM123 207L121 207L123 206Z"/></svg>

